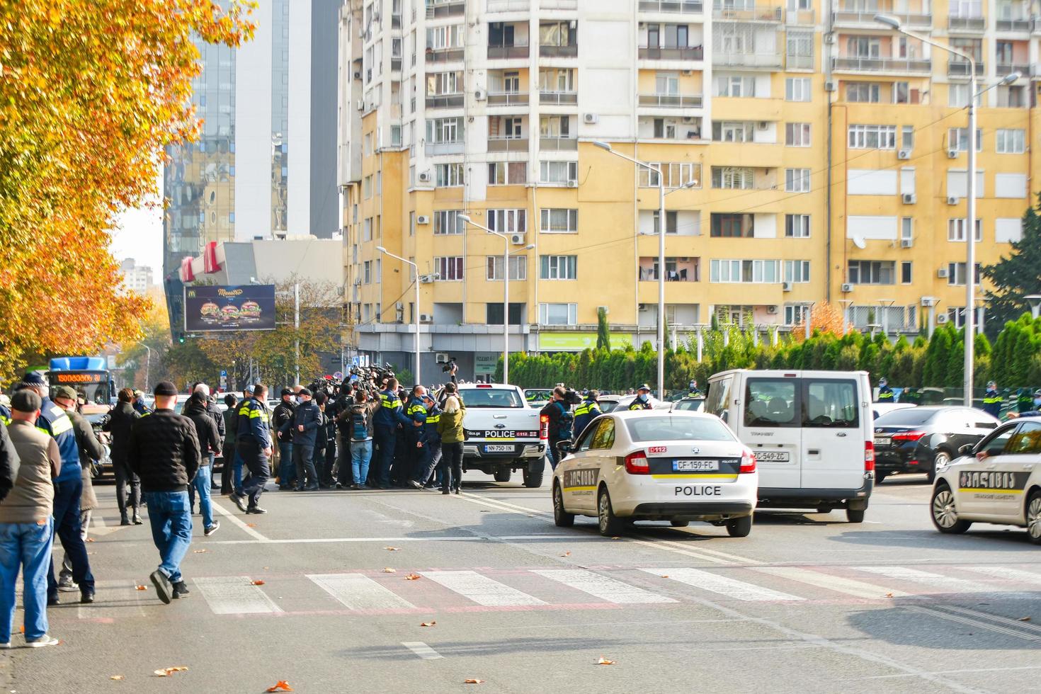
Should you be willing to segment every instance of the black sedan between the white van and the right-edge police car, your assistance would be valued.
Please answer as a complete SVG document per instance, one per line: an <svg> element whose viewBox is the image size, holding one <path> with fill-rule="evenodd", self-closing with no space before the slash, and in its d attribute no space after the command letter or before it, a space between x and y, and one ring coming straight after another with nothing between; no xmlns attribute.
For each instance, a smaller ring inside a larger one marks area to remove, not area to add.
<svg viewBox="0 0 1041 694"><path fill-rule="evenodd" d="M874 484L896 472L924 472L933 483L936 468L958 457L993 431L996 418L967 407L915 407L888 412L874 420Z"/></svg>

